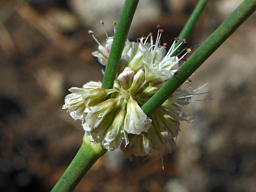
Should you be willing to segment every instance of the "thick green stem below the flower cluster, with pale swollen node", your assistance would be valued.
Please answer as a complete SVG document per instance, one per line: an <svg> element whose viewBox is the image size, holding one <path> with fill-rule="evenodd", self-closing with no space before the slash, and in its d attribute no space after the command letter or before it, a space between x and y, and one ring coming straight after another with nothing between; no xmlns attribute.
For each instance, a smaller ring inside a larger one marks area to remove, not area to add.
<svg viewBox="0 0 256 192"><path fill-rule="evenodd" d="M51 192L72 192L96 160L105 153L100 143L91 144L84 136L82 146Z"/></svg>

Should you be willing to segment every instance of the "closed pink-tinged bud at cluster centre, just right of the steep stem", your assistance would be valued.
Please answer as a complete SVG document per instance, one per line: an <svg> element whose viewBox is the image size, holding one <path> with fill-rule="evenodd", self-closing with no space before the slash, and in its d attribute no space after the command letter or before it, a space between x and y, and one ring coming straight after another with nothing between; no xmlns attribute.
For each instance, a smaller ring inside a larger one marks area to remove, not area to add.
<svg viewBox="0 0 256 192"><path fill-rule="evenodd" d="M122 73L117 77L124 90L128 90L132 84L134 71L126 67Z"/></svg>

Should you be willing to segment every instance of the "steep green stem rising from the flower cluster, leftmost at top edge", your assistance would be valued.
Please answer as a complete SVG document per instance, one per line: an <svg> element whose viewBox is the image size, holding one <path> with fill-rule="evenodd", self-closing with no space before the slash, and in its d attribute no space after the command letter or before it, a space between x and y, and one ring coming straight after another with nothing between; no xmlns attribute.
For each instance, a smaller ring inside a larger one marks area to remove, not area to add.
<svg viewBox="0 0 256 192"><path fill-rule="evenodd" d="M112 89L118 66L121 61L122 52L127 40L130 24L135 13L139 0L126 0L120 16L117 30L109 53L105 74L102 81L102 88Z"/></svg>

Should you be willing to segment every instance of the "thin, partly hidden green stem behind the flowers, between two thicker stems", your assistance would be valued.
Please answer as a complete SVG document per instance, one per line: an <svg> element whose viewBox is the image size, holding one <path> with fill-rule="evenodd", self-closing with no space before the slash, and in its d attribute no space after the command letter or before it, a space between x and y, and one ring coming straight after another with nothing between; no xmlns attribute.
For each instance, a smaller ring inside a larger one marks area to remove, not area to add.
<svg viewBox="0 0 256 192"><path fill-rule="evenodd" d="M192 28L194 27L196 21L198 20L199 16L201 15L206 3L208 2L208 0L199 0L198 3L196 4L190 18L188 19L187 23L185 24L185 26L183 27L182 31L180 32L178 38L178 42L176 43L175 47L177 47L183 38L187 38L192 30ZM179 47L179 49L177 49L172 55L171 57L177 55L177 53L179 52L179 50L182 47Z"/></svg>

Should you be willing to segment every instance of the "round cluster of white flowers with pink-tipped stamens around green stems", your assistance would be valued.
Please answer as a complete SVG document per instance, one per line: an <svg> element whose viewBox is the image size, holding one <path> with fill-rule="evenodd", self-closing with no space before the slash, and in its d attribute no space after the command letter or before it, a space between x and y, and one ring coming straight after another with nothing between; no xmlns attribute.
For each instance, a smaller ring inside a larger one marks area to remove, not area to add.
<svg viewBox="0 0 256 192"><path fill-rule="evenodd" d="M170 151L175 146L180 121L190 122L179 108L198 95L195 94L198 89L189 92L179 88L151 116L142 111L141 106L178 73L179 62L185 62L185 55L190 52L188 49L181 57L172 57L180 45L186 43L183 39L175 47L175 38L166 53L167 44L160 45L164 30L159 25L157 28L155 42L152 34L136 42L126 41L113 89L102 89L100 82L91 81L83 88L69 89L71 94L65 97L63 109L67 109L74 120L82 121L85 134L92 142L101 142L109 151L121 147L128 158ZM113 37L106 33L106 45L102 46L93 32L89 33L99 45L93 55L106 65ZM190 78L186 83L189 82ZM111 98L106 99L108 94L112 94Z"/></svg>

